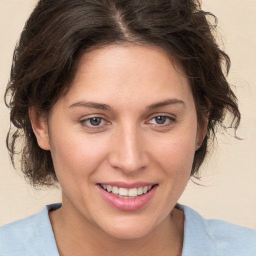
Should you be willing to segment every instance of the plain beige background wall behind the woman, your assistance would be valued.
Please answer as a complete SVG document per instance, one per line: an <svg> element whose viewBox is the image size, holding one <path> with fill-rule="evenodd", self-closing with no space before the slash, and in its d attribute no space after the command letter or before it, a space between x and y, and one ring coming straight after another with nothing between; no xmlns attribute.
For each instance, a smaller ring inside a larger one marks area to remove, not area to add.
<svg viewBox="0 0 256 256"><path fill-rule="evenodd" d="M0 0L0 225L60 201L60 191L35 191L9 163L5 148L8 111L3 93L16 39L36 0ZM228 80L235 84L242 112L237 135L218 134L215 152L201 168L202 183L189 183L179 202L206 218L256 228L256 0L204 0L219 19L224 48L232 60Z"/></svg>

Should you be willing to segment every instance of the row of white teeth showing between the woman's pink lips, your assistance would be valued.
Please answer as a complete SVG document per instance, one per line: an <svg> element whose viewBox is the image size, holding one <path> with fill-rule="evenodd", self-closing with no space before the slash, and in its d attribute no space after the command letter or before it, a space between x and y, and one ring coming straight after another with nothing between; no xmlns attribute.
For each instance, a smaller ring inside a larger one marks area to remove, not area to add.
<svg viewBox="0 0 256 256"><path fill-rule="evenodd" d="M125 187L118 187L118 186L111 186L106 184L99 184L101 188L103 188L105 191L119 197L119 198L137 198L142 194L147 193L152 189L154 185L148 185L148 186L139 186L139 187L132 187L132 188L125 188Z"/></svg>

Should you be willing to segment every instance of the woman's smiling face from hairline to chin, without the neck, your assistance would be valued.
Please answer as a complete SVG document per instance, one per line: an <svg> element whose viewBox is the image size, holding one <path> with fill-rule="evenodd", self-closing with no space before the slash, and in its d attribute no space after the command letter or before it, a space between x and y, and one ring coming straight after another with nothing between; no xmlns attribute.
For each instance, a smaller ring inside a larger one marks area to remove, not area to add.
<svg viewBox="0 0 256 256"><path fill-rule="evenodd" d="M152 47L84 53L52 107L49 136L38 139L51 151L63 211L118 238L141 237L167 218L201 142L182 74Z"/></svg>

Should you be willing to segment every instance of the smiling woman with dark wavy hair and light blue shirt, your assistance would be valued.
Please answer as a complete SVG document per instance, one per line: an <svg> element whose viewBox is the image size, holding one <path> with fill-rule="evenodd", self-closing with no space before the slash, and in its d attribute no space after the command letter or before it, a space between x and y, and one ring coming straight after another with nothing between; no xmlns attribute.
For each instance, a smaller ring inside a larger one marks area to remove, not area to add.
<svg viewBox="0 0 256 256"><path fill-rule="evenodd" d="M7 224L0 255L254 255L255 231L178 205L237 100L188 0L41 0L6 89L12 162L62 204ZM209 14L212 15L212 14ZM12 130L11 130L12 131Z"/></svg>

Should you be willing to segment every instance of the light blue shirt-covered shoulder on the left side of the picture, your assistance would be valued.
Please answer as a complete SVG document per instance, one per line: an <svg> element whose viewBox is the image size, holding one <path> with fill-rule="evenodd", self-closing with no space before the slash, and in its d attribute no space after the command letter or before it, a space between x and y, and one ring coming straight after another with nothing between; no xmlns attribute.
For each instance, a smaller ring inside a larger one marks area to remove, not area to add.
<svg viewBox="0 0 256 256"><path fill-rule="evenodd" d="M48 217L48 210L57 207L60 207L60 204L46 205L37 214L1 226L0 256L58 256ZM45 250L48 252L45 253Z"/></svg>

